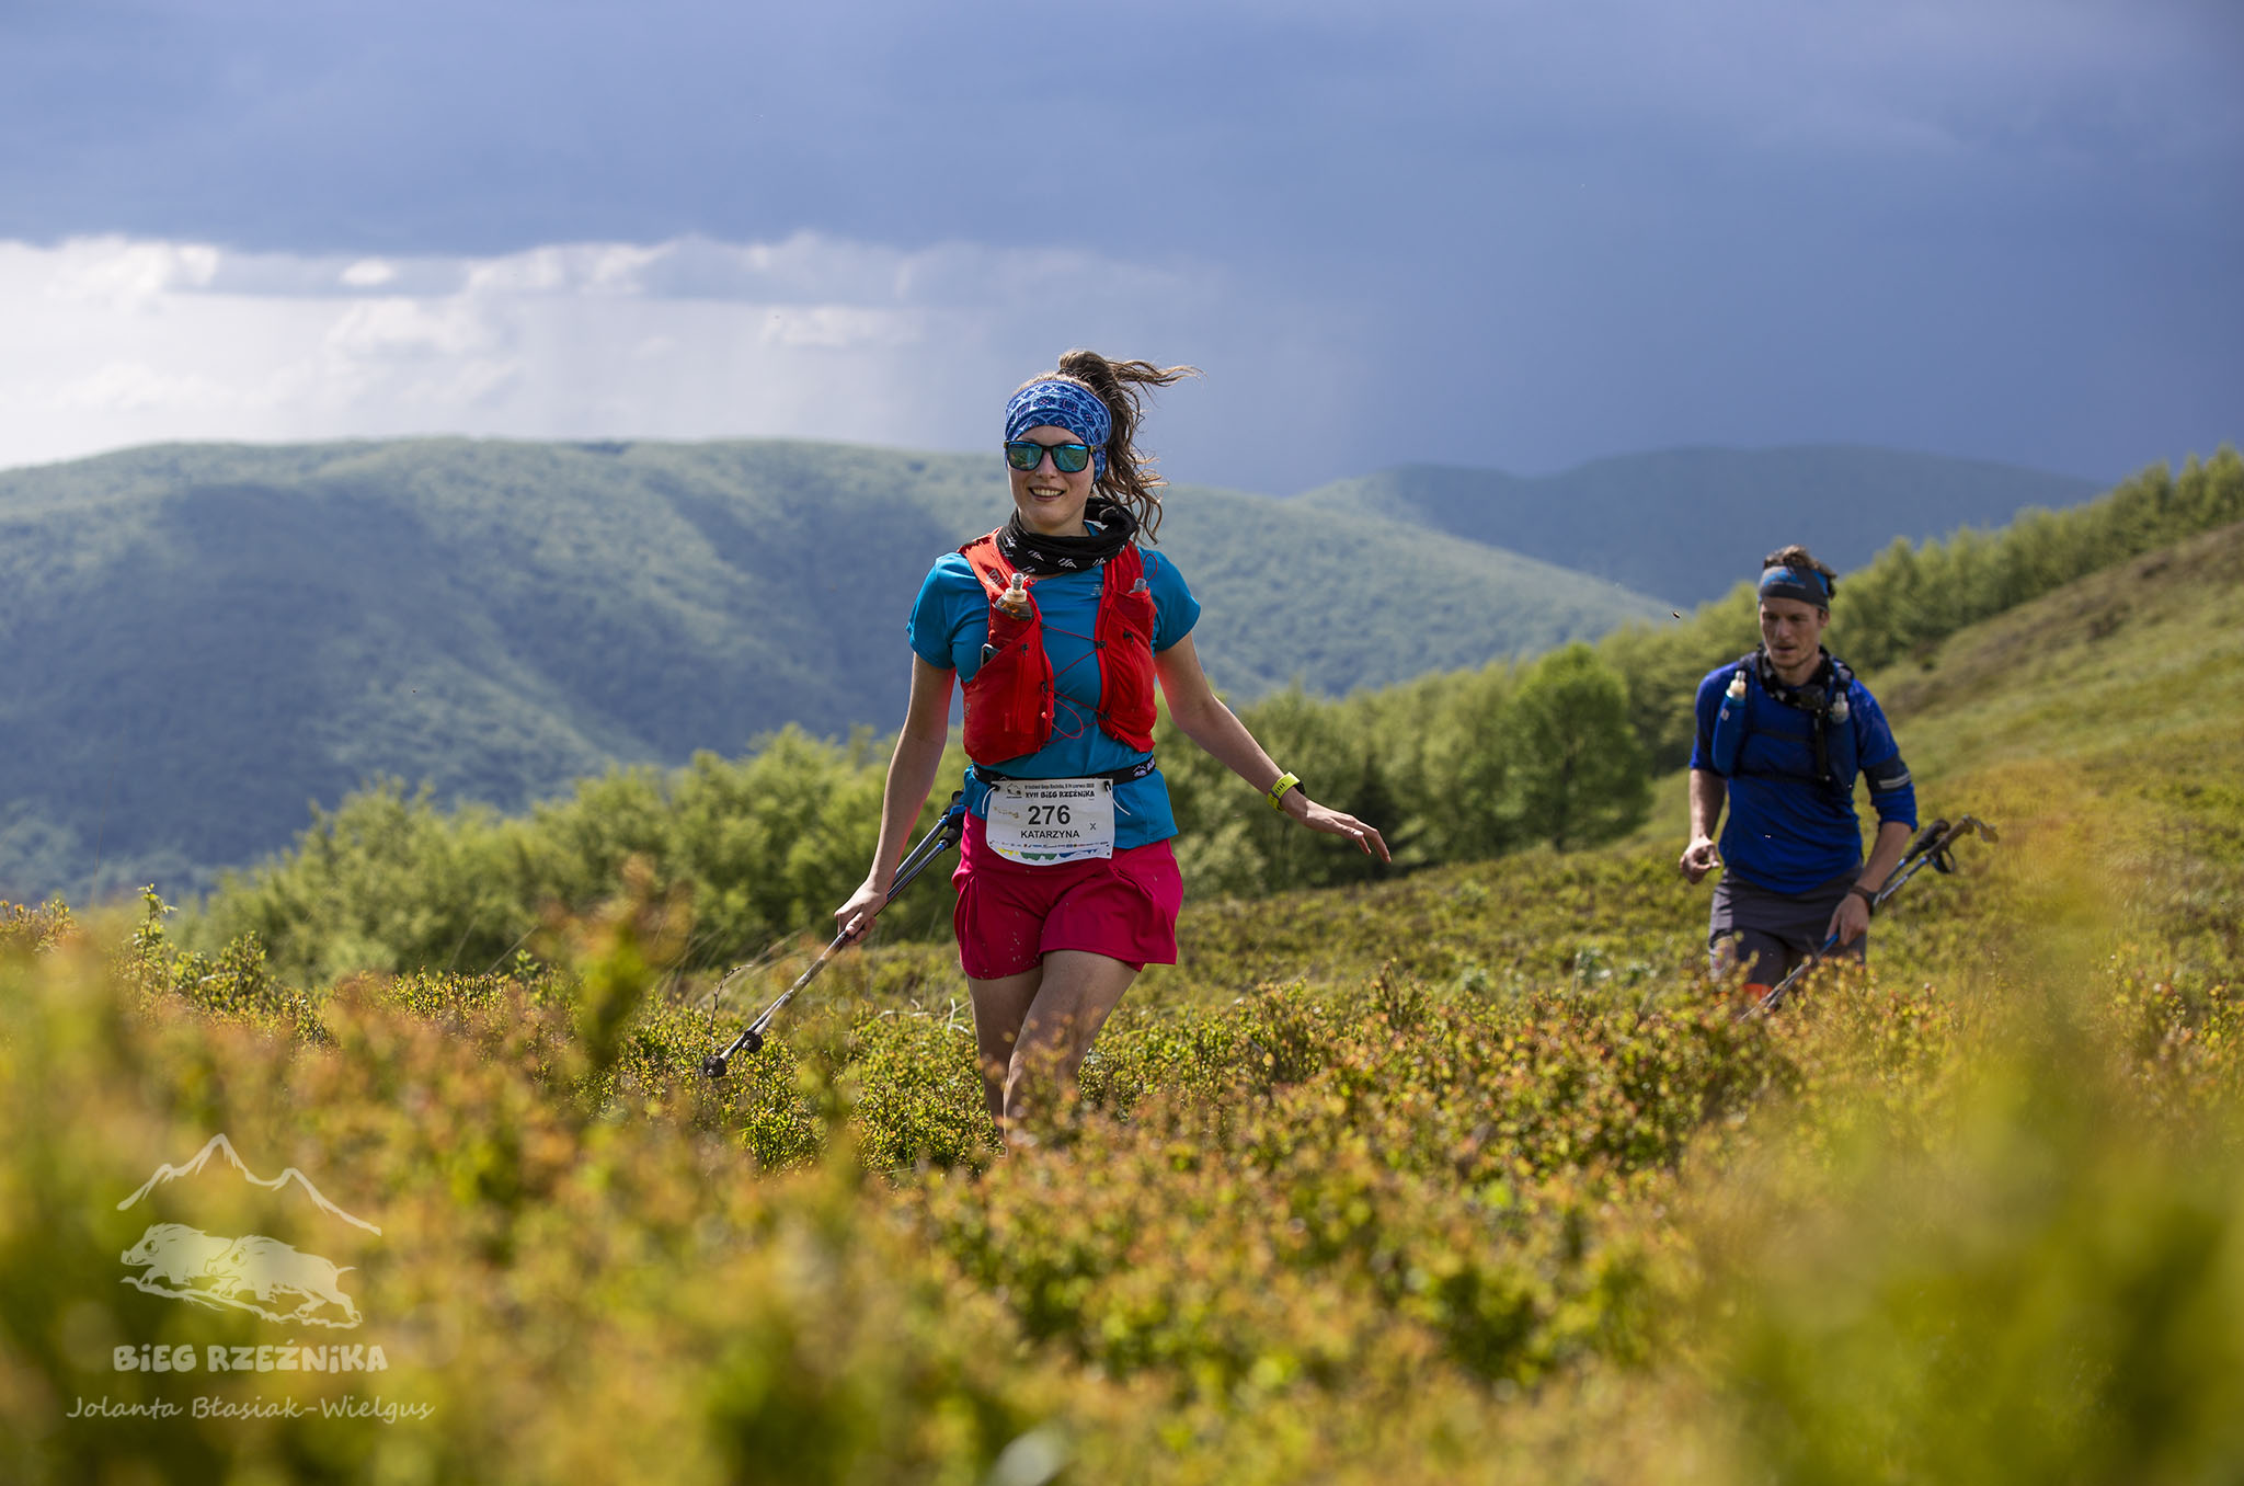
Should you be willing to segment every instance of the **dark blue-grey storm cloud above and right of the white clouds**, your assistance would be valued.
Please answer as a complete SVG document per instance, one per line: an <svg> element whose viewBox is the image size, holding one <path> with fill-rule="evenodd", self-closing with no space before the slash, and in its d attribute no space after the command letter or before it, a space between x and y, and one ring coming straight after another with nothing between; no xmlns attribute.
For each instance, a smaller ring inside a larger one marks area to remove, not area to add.
<svg viewBox="0 0 2244 1486"><path fill-rule="evenodd" d="M1809 438L2107 476L2244 409L2240 13L34 2L0 236L1086 249L1241 296L1133 350L1239 379L1317 321L1304 483Z"/></svg>

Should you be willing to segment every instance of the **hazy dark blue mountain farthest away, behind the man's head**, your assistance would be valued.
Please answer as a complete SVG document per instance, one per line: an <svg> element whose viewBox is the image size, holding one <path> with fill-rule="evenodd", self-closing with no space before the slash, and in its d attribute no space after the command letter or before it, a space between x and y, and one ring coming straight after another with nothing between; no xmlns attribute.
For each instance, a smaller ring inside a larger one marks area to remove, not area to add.
<svg viewBox="0 0 2244 1486"><path fill-rule="evenodd" d="M2078 505L2100 489L2017 465L1815 444L1629 453L1548 476L1400 465L1319 485L1295 505L1414 521L1690 608L1788 541L1845 572L1894 536L2004 525L2029 505Z"/></svg>

